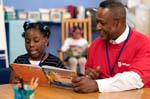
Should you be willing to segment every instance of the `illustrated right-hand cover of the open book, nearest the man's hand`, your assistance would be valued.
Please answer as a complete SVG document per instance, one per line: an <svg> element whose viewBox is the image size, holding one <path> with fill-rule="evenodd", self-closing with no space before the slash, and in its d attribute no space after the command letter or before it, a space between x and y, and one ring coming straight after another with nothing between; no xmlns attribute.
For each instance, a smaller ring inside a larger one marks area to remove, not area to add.
<svg viewBox="0 0 150 99"><path fill-rule="evenodd" d="M71 88L72 78L77 75L75 71L52 66L42 66L42 69L49 83L60 87Z"/></svg>

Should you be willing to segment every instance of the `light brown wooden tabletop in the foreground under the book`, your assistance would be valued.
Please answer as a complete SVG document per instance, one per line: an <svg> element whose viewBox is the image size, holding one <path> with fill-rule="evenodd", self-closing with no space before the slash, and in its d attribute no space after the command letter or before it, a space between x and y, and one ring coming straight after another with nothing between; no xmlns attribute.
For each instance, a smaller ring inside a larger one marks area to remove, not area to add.
<svg viewBox="0 0 150 99"><path fill-rule="evenodd" d="M12 85L0 85L0 99L13 99ZM71 89L39 86L35 99L150 99L150 88L114 93L76 93Z"/></svg>

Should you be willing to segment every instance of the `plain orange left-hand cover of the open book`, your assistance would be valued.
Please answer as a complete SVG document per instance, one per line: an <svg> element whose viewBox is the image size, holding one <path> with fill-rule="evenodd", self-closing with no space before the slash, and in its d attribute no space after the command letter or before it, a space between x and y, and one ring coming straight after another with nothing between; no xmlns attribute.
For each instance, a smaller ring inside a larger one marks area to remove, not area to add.
<svg viewBox="0 0 150 99"><path fill-rule="evenodd" d="M39 85L48 85L48 80L46 79L41 67L34 66L31 64L11 64L15 74L21 76L25 83L30 83L31 79L34 77L39 78Z"/></svg>

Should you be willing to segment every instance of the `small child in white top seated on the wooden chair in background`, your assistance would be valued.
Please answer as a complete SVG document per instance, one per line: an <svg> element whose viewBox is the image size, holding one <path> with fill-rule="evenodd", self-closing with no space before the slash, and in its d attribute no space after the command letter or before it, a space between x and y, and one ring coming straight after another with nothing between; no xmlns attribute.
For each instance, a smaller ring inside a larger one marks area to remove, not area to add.
<svg viewBox="0 0 150 99"><path fill-rule="evenodd" d="M84 74L88 42L82 37L83 30L79 26L74 26L70 30L70 34L71 36L65 40L61 50L69 57L70 69L77 71L77 66L79 65L79 73Z"/></svg>

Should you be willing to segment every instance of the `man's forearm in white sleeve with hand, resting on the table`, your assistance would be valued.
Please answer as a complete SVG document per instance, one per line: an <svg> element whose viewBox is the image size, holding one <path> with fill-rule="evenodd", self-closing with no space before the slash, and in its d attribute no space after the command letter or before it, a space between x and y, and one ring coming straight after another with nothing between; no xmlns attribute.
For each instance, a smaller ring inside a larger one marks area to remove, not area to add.
<svg viewBox="0 0 150 99"><path fill-rule="evenodd" d="M82 76L72 80L76 92L117 92L142 88L144 83L135 72L118 73L112 78L93 80L91 77Z"/></svg>

